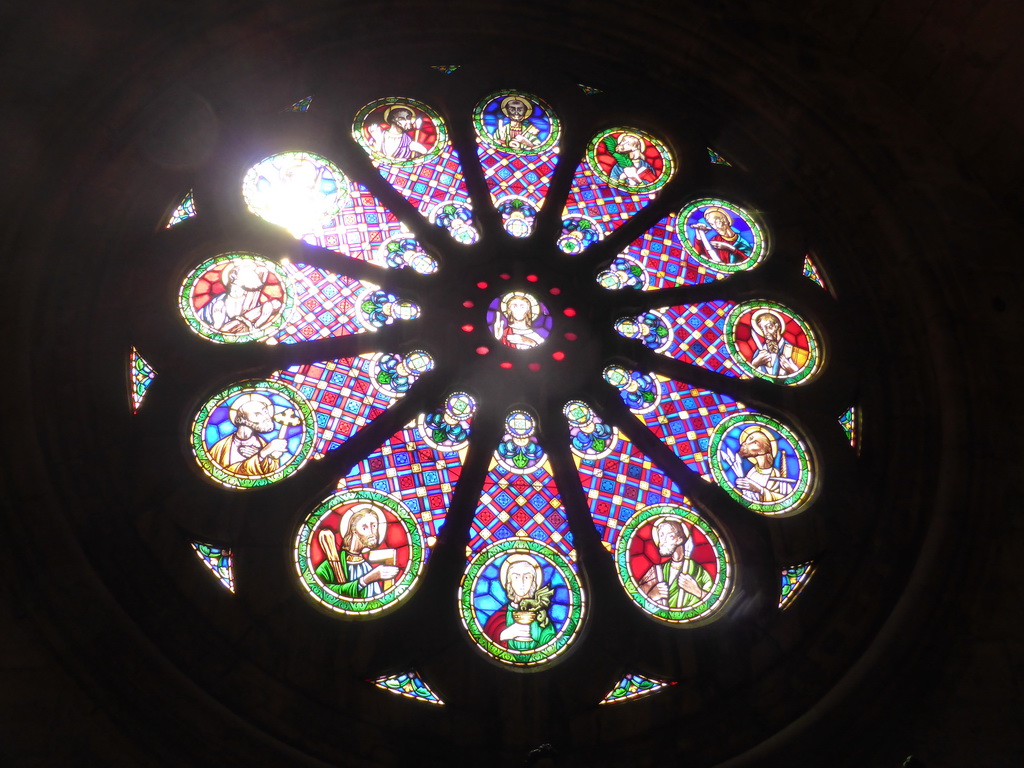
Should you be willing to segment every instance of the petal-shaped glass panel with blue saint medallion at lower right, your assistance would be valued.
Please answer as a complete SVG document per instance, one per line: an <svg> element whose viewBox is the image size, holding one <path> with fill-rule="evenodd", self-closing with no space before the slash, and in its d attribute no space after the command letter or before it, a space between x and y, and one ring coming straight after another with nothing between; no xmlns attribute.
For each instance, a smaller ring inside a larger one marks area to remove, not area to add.
<svg viewBox="0 0 1024 768"><path fill-rule="evenodd" d="M686 466L744 507L778 515L799 511L810 499L813 456L784 424L657 374L609 366L604 378Z"/></svg>

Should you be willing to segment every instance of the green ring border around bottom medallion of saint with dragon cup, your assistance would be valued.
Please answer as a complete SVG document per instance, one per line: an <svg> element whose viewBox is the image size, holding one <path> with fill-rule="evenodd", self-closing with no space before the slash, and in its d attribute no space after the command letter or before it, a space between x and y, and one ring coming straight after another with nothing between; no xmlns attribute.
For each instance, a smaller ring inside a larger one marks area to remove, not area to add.
<svg viewBox="0 0 1024 768"><path fill-rule="evenodd" d="M475 592L476 580L480 571L492 560L506 552L513 551L542 555L562 574L565 585L569 590L569 614L566 618L564 629L555 635L554 639L549 643L542 645L540 648L535 648L528 653L516 653L508 648L503 648L484 635L483 628L479 627L476 623L476 610L473 607L473 593ZM462 615L462 624L473 642L492 658L517 667L531 667L546 664L563 653L575 639L577 635L579 635L587 607L583 586L572 566L554 549L532 539L505 539L480 550L470 560L469 566L462 577L462 583L459 585L459 612Z"/></svg>

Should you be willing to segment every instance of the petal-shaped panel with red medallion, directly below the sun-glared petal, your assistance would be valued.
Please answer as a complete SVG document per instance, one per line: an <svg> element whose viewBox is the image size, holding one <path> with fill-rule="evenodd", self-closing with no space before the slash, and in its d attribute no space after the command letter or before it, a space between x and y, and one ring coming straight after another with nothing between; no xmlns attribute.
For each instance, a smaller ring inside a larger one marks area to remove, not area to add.
<svg viewBox="0 0 1024 768"><path fill-rule="evenodd" d="M220 343L296 344L420 315L416 304L372 283L254 253L200 264L182 283L178 308L193 332Z"/></svg>

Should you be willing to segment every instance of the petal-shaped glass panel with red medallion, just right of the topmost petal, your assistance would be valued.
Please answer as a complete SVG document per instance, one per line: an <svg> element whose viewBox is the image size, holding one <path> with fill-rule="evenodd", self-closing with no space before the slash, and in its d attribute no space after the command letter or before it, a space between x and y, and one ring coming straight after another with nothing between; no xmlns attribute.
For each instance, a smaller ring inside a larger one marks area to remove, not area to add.
<svg viewBox="0 0 1024 768"><path fill-rule="evenodd" d="M558 248L580 253L646 207L675 173L664 141L638 128L598 133L577 167Z"/></svg>

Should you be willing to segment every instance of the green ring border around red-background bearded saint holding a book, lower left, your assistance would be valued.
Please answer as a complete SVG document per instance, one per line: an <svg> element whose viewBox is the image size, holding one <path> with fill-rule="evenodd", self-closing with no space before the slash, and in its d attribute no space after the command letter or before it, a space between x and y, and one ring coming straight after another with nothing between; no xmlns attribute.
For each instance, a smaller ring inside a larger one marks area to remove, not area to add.
<svg viewBox="0 0 1024 768"><path fill-rule="evenodd" d="M398 518L406 532L409 535L410 560L409 567L401 579L390 590L379 597L352 598L342 597L335 594L328 585L322 584L313 572L312 563L309 559L309 537L316 528L316 524L325 515L333 512L337 507L351 501L366 500L387 507L394 516ZM387 611L398 607L401 601L409 597L420 574L423 572L424 543L423 532L420 525L413 516L409 508L400 501L388 494L382 494L372 488L359 488L357 490L338 490L321 502L302 522L299 527L299 535L295 541L295 567L298 570L299 581L306 592L322 605L326 605L332 610L351 617L377 617Z"/></svg>

